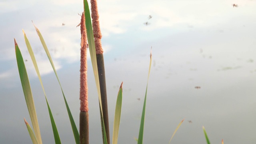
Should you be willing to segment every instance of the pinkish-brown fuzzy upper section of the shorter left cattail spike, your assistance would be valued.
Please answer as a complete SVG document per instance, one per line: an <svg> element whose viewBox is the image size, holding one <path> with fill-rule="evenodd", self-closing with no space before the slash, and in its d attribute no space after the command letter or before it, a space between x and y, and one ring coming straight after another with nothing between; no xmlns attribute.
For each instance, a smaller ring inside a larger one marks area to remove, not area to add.
<svg viewBox="0 0 256 144"><path fill-rule="evenodd" d="M84 13L81 16L80 111L88 112L87 35Z"/></svg>

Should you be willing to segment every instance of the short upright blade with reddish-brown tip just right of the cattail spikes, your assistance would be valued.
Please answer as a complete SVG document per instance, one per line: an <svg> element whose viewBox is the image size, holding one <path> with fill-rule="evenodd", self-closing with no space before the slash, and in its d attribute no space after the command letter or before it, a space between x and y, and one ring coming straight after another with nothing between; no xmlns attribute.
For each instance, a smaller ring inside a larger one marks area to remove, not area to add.
<svg viewBox="0 0 256 144"><path fill-rule="evenodd" d="M121 110L122 110L122 93L123 93L123 82L120 86L117 99L116 99L116 111L114 116L114 128L113 128L113 140L112 144L117 144L118 140L118 131L120 125L120 117L121 117Z"/></svg>

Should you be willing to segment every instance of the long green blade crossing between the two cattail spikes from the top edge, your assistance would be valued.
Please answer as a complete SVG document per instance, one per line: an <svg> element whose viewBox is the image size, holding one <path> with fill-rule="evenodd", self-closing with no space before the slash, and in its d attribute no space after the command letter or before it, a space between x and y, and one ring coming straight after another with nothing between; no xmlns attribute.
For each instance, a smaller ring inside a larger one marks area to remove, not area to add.
<svg viewBox="0 0 256 144"><path fill-rule="evenodd" d="M100 112L101 112L102 123L103 123L102 129L103 129L103 133L104 133L104 144L107 144L106 130L105 130L103 113L102 113L103 110L102 110L102 100L101 100L101 94L100 94L100 82L99 82L99 76L98 76L96 50L95 50L95 44L94 44L94 35L93 35L93 31L92 31L92 20L91 20L91 15L90 15L90 10L89 10L89 5L88 5L87 0L84 0L84 16L85 16L87 39L88 39L89 50L90 50L90 57L91 57L91 61L92 61L92 68L93 68L93 72L94 72L94 78L95 78L99 102L100 102Z"/></svg>

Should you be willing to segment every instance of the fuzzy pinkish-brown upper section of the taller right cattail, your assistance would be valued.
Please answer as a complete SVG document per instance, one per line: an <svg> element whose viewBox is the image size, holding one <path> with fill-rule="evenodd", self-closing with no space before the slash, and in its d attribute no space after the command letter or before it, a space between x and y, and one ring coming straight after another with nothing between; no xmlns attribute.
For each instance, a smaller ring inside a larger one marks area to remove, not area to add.
<svg viewBox="0 0 256 144"><path fill-rule="evenodd" d="M93 28L93 34L94 34L96 54L103 54L103 49L101 45L102 34L100 32L97 0L91 0L91 10L92 10L92 28Z"/></svg>

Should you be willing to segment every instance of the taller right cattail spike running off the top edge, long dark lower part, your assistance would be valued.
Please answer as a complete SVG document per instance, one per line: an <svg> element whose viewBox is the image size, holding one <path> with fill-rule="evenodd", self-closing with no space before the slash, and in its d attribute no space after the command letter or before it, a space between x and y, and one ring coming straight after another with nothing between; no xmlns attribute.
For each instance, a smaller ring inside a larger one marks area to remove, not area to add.
<svg viewBox="0 0 256 144"><path fill-rule="evenodd" d="M102 44L101 44L102 34L100 32L100 22L99 22L98 6L97 6L96 0L91 0L91 11L92 11L92 28L93 28L93 35L94 35L98 76L99 76L99 81L100 81L101 102L102 102L102 112L100 112L101 126L102 126L102 137L104 134L103 126L105 126L107 142L108 142L108 144L110 144L106 78L105 78L103 49L102 49ZM101 113L103 113L103 118L102 118ZM104 122L104 125L103 125L103 122ZM103 140L103 142L104 142L104 140Z"/></svg>

